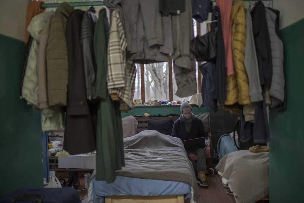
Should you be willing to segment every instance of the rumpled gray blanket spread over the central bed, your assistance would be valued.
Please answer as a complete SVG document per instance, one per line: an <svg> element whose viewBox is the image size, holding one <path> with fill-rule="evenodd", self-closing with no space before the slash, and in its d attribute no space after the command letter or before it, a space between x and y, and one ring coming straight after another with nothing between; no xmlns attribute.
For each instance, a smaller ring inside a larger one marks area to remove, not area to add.
<svg viewBox="0 0 304 203"><path fill-rule="evenodd" d="M124 138L126 166L117 176L184 182L193 188L193 198L199 189L191 162L181 140L154 130L146 130Z"/></svg>

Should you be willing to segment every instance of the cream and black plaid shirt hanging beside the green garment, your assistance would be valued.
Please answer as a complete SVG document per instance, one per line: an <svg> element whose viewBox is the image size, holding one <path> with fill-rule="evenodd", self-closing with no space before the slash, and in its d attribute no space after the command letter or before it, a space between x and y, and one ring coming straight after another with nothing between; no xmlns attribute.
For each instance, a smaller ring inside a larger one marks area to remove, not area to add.
<svg viewBox="0 0 304 203"><path fill-rule="evenodd" d="M119 97L121 112L127 112L134 107L136 67L132 61L126 61L126 37L119 18L119 11L112 13L108 44L108 91Z"/></svg>

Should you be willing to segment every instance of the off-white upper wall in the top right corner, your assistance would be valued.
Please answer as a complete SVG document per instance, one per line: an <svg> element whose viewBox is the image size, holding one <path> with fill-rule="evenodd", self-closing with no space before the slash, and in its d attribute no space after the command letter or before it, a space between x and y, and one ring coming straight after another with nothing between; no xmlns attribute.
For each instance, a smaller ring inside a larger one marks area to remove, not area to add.
<svg viewBox="0 0 304 203"><path fill-rule="evenodd" d="M280 11L280 29L304 18L303 0L273 0L273 8Z"/></svg>

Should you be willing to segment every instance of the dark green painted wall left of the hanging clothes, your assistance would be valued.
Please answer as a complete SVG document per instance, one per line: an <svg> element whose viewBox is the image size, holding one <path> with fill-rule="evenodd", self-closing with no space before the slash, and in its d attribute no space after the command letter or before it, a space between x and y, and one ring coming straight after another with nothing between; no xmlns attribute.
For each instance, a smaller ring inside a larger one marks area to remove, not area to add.
<svg viewBox="0 0 304 203"><path fill-rule="evenodd" d="M19 98L25 45L0 34L0 198L43 187L40 113Z"/></svg>

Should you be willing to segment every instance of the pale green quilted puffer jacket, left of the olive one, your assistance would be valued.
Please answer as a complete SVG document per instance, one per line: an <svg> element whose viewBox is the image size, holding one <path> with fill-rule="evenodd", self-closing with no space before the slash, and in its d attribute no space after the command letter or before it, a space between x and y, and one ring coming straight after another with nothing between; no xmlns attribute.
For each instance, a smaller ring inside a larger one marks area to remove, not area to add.
<svg viewBox="0 0 304 203"><path fill-rule="evenodd" d="M44 25L49 16L53 13L53 11L49 11L34 16L27 27L30 35L33 37L33 42L29 51L29 58L21 91L22 98L24 98L29 105L33 105L34 107L38 107L37 50Z"/></svg>

